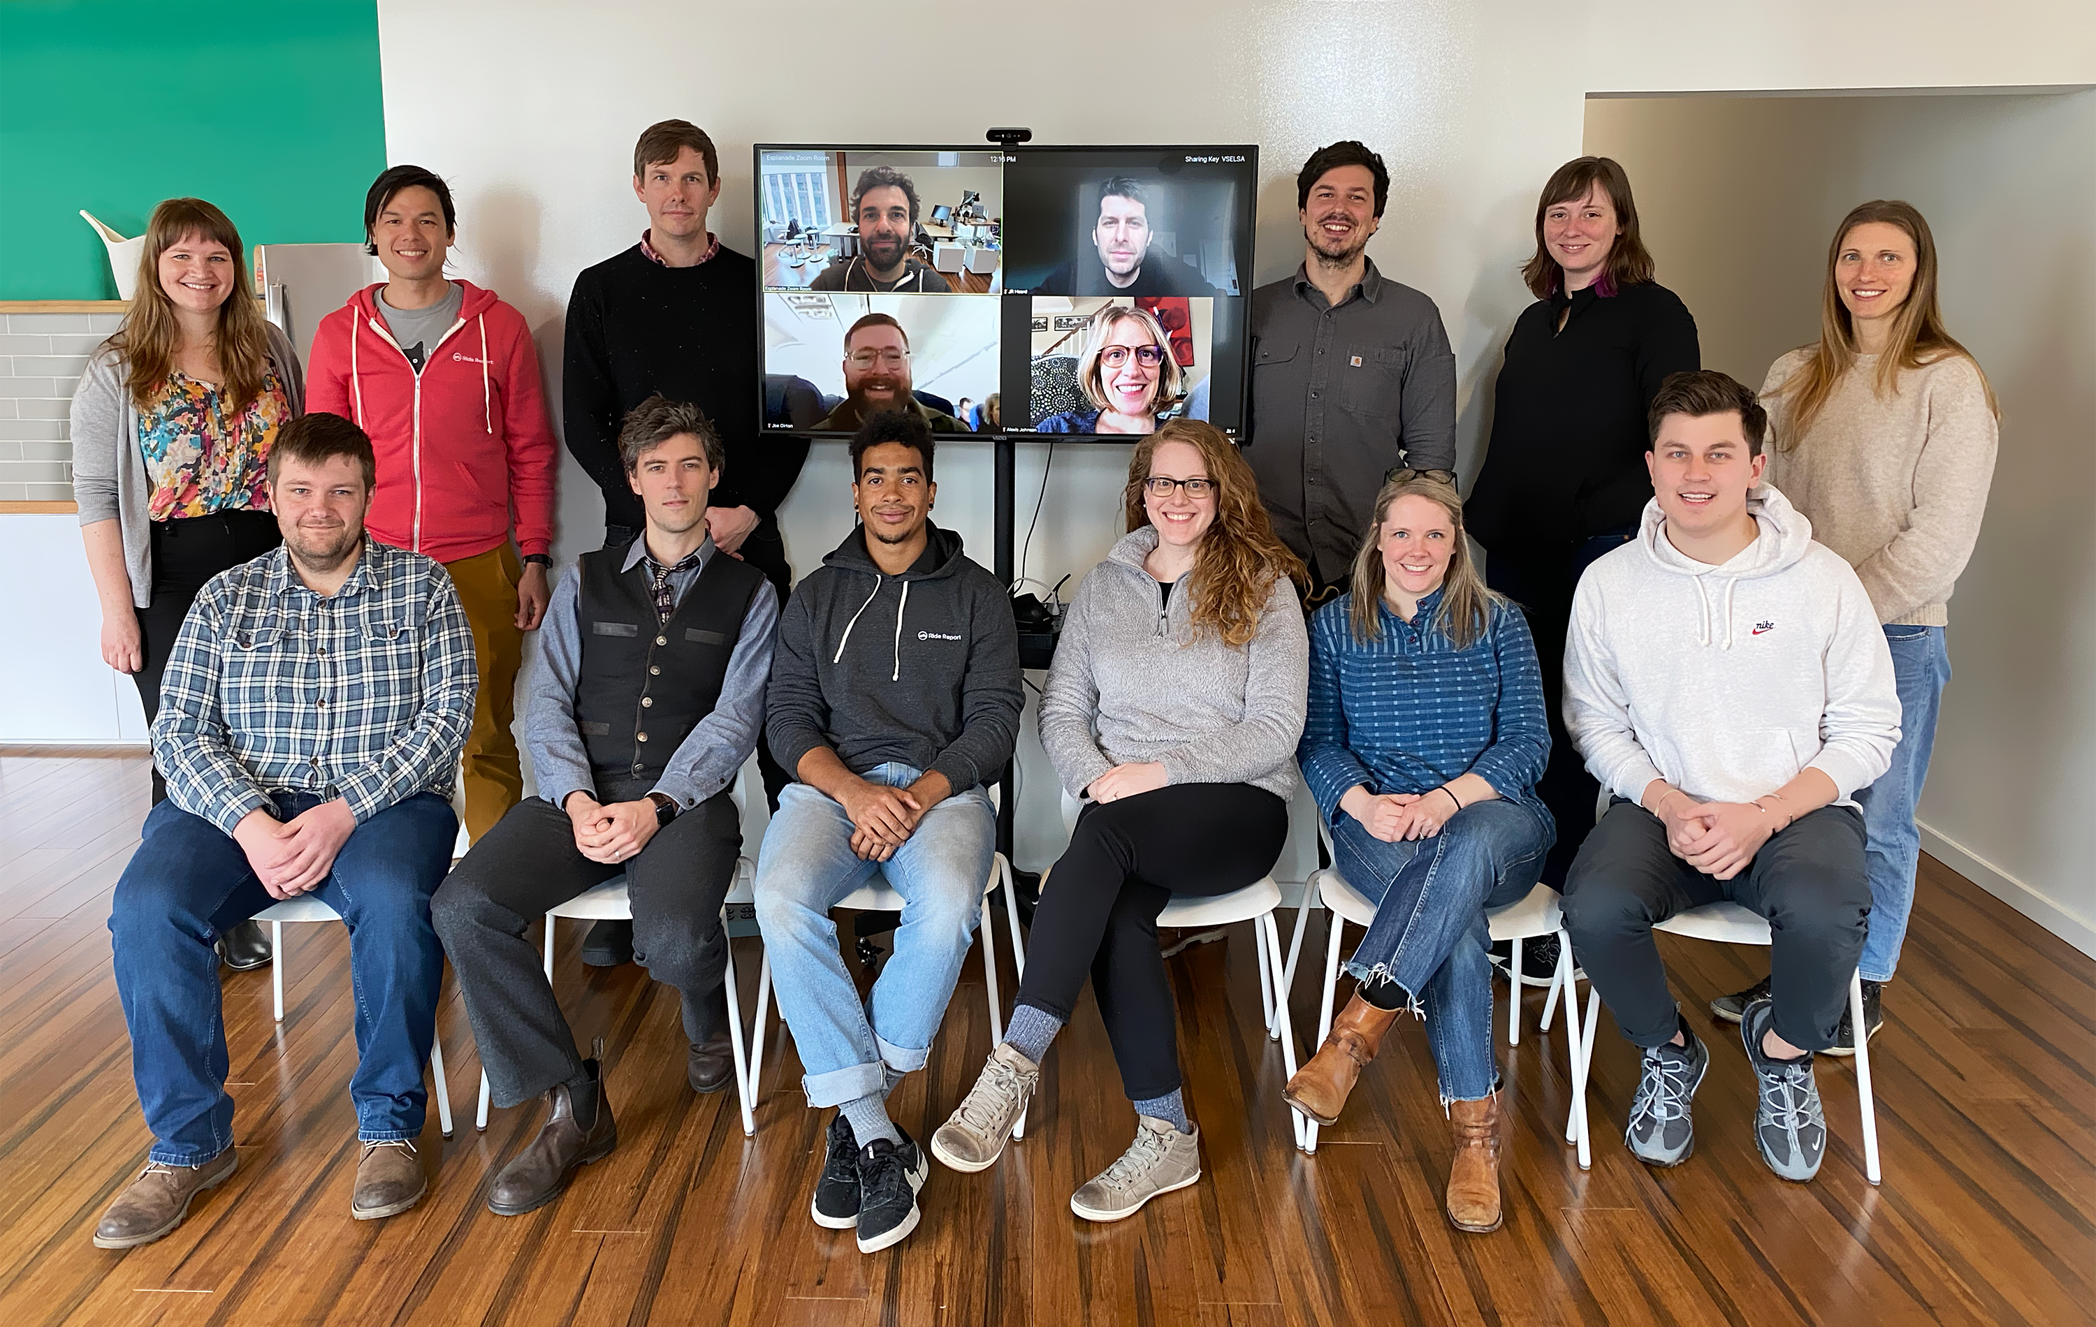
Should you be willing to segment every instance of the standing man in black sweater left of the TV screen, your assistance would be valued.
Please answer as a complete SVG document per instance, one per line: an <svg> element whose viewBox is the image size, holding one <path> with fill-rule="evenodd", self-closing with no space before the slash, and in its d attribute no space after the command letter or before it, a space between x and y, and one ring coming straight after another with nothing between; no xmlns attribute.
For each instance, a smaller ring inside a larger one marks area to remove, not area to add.
<svg viewBox="0 0 2096 1327"><path fill-rule="evenodd" d="M604 491L604 547L625 547L646 518L618 455L620 423L654 394L704 411L727 447L706 532L719 551L761 570L784 602L792 568L778 507L801 478L807 440L761 430L757 264L706 229L706 210L721 197L719 166L713 138L685 119L648 126L633 147L633 197L648 208L648 231L574 279L562 421L568 451ZM776 803L788 776L763 742L757 765ZM633 922L597 922L583 943L583 960L595 966L631 958Z"/></svg>

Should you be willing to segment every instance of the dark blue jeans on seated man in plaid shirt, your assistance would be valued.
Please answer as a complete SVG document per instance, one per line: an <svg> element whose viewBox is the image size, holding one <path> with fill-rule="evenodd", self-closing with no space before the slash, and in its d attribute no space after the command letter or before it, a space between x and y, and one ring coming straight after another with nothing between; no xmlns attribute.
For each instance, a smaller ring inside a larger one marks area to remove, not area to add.
<svg viewBox="0 0 2096 1327"><path fill-rule="evenodd" d="M277 815L289 820L319 803L279 795ZM356 826L312 891L350 929L358 1054L350 1101L365 1143L421 1136L430 1103L421 1067L444 981L430 895L451 870L457 834L451 803L417 792ZM233 1145L212 943L275 901L241 845L210 820L172 801L145 818L145 841L117 880L109 935L155 1161L201 1166Z"/></svg>

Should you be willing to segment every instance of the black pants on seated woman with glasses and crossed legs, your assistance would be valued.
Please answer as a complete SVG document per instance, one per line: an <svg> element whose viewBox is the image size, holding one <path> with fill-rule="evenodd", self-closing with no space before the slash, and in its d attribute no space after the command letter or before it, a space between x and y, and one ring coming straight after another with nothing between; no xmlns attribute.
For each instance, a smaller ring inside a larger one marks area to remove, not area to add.
<svg viewBox="0 0 2096 1327"><path fill-rule="evenodd" d="M1287 834L1287 803L1251 784L1174 784L1086 803L1033 912L1019 1002L1069 1023L1090 973L1128 1098L1174 1092L1178 1015L1157 914L1172 895L1251 885L1274 868Z"/></svg>

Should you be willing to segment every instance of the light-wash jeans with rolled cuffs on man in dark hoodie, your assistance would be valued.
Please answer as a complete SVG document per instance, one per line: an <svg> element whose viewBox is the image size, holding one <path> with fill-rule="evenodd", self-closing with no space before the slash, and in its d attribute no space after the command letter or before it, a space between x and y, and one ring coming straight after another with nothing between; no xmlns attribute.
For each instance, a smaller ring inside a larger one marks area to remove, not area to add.
<svg viewBox="0 0 2096 1327"><path fill-rule="evenodd" d="M859 778L905 788L918 776L910 765L887 763ZM998 815L983 788L956 792L926 811L887 862L861 862L851 851L851 828L840 803L807 784L786 784L757 853L757 929L771 956L780 1017L801 1050L801 1086L811 1107L878 1092L880 1065L899 1073L924 1067L998 851ZM836 950L830 908L874 872L903 897L903 920L868 1006Z"/></svg>

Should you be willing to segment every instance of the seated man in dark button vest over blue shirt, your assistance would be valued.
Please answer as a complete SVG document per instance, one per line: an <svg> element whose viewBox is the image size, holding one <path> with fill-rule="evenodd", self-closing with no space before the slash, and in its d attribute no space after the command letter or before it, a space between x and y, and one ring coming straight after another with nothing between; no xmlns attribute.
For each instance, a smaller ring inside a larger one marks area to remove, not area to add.
<svg viewBox="0 0 2096 1327"><path fill-rule="evenodd" d="M706 535L723 455L698 407L650 396L618 451L648 524L583 553L553 591L524 715L539 797L432 901L495 1105L547 1103L539 1136L488 1189L497 1216L553 1201L618 1143L599 1063L578 1054L526 939L547 908L625 874L635 960L683 996L692 1088L734 1082L721 899L742 824L727 788L757 748L778 593Z"/></svg>

